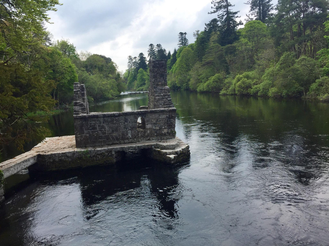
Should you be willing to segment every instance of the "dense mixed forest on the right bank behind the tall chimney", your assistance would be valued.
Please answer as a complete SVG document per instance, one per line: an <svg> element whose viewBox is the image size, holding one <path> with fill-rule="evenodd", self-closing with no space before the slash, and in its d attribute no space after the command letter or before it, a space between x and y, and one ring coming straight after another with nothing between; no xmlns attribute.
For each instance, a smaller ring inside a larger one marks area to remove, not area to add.
<svg viewBox="0 0 329 246"><path fill-rule="evenodd" d="M329 21L327 0L248 0L244 26L228 0L213 0L217 18L196 30L189 44L178 34L172 54L150 44L148 59L167 59L173 90L221 95L304 97L329 100ZM241 28L239 28L241 27ZM128 89L146 90L143 53L128 57Z"/></svg>

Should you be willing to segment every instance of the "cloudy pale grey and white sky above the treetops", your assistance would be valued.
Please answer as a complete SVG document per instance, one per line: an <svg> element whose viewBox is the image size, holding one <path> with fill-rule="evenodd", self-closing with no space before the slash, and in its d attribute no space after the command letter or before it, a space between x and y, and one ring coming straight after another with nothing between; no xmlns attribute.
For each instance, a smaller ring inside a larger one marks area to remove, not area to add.
<svg viewBox="0 0 329 246"><path fill-rule="evenodd" d="M144 53L150 43L160 43L167 51L177 48L178 33L202 31L216 18L211 0L61 0L57 12L50 12L48 30L54 39L69 39L77 51L112 58L119 71L127 69L127 57ZM249 6L246 0L231 0L244 21ZM273 0L276 3L277 0Z"/></svg>

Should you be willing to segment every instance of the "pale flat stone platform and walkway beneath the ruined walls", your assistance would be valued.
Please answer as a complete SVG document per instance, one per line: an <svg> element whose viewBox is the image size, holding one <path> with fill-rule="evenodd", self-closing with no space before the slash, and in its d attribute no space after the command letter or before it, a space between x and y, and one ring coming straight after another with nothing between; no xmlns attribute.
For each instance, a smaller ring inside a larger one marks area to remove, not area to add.
<svg viewBox="0 0 329 246"><path fill-rule="evenodd" d="M32 150L0 163L7 178L25 168L42 172L81 168L93 165L109 165L124 159L129 151L142 150L151 159L164 163L176 163L190 156L189 145L178 137L167 140L143 141L102 147L76 148L75 136L49 137ZM0 184L0 202L4 191Z"/></svg>

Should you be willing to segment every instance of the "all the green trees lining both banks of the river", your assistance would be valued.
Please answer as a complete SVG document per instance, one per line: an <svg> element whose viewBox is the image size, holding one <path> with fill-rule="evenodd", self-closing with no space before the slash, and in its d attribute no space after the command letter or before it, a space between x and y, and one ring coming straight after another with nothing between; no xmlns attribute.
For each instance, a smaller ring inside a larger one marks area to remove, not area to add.
<svg viewBox="0 0 329 246"><path fill-rule="evenodd" d="M245 23L228 0L213 0L204 30L178 34L172 53L150 44L128 57L124 74L111 58L78 53L69 40L52 40L45 26L58 0L0 1L0 144L42 138L54 109L72 105L73 83L86 85L89 101L147 90L148 60L167 60L172 90L221 95L305 97L329 100L327 0L248 0Z"/></svg>

